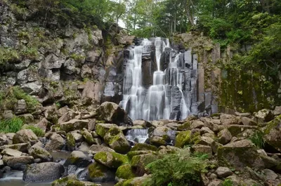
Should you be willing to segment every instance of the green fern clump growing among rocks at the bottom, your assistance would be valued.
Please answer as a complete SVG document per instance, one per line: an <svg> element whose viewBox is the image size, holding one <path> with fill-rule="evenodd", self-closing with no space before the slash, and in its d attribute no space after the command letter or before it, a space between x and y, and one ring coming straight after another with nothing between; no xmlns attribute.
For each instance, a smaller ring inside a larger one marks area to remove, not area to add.
<svg viewBox="0 0 281 186"><path fill-rule="evenodd" d="M179 151L178 154L166 154L148 164L147 168L152 176L145 185L196 185L206 167L204 155L191 155L187 149Z"/></svg>

